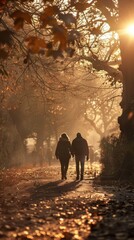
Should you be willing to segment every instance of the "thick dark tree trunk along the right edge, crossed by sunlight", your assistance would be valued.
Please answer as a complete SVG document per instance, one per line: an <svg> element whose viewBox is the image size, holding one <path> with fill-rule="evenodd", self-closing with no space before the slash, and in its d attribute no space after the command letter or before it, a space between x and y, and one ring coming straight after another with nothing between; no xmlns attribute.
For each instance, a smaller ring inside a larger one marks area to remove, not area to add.
<svg viewBox="0 0 134 240"><path fill-rule="evenodd" d="M118 4L123 75L122 115L118 118L118 122L121 136L124 138L123 148L126 148L122 168L130 176L133 174L134 167L134 37L123 30L134 22L134 0L119 0Z"/></svg>

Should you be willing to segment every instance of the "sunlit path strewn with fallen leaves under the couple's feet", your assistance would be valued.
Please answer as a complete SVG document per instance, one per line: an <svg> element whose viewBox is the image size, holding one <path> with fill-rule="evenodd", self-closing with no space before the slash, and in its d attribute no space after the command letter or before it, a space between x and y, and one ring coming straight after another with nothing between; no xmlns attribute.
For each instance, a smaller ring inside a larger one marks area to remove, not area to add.
<svg viewBox="0 0 134 240"><path fill-rule="evenodd" d="M1 172L0 239L134 239L132 186L94 185L88 170L83 181L73 164L66 181L59 165Z"/></svg>

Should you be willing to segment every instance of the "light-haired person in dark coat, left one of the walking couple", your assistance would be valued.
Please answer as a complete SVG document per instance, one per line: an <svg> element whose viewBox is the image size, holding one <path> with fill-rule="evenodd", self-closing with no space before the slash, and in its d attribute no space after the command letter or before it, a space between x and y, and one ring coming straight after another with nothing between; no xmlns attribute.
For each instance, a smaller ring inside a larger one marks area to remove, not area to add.
<svg viewBox="0 0 134 240"><path fill-rule="evenodd" d="M61 179L67 179L69 159L71 158L71 143L66 133L62 133L57 143L55 156L61 164Z"/></svg>

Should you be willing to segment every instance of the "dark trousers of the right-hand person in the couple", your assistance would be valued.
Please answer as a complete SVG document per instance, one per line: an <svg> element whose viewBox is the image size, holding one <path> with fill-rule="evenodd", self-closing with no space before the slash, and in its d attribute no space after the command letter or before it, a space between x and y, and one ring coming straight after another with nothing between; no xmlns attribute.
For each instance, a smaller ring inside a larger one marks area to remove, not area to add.
<svg viewBox="0 0 134 240"><path fill-rule="evenodd" d="M77 179L84 177L85 156L75 156ZM80 169L81 168L81 169Z"/></svg>

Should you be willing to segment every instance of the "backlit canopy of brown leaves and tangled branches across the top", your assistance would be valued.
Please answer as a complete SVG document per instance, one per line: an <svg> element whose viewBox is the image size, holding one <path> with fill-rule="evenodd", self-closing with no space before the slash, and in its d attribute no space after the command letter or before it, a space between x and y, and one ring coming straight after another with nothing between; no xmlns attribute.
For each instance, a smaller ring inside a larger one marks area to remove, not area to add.
<svg viewBox="0 0 134 240"><path fill-rule="evenodd" d="M39 56L77 57L77 61L89 61L92 69L119 79L113 68L120 61L116 1L3 0L0 14L1 74L8 74L3 60L16 55L21 58L19 64L28 66L39 61Z"/></svg>

